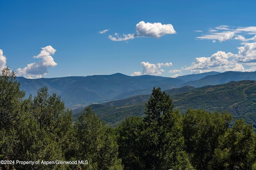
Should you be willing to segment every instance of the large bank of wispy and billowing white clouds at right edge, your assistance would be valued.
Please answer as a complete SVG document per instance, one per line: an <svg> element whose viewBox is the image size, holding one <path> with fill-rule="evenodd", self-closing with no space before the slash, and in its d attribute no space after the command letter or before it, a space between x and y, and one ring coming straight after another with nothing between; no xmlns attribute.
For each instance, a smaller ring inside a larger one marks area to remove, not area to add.
<svg viewBox="0 0 256 170"><path fill-rule="evenodd" d="M218 51L211 57L198 57L190 66L184 66L183 70L191 70L192 73L209 71L255 71L256 70L256 27L229 27L221 25L198 39L210 39L222 42L231 39L242 41L238 47L238 53L225 53ZM251 35L254 35L253 37Z"/></svg>

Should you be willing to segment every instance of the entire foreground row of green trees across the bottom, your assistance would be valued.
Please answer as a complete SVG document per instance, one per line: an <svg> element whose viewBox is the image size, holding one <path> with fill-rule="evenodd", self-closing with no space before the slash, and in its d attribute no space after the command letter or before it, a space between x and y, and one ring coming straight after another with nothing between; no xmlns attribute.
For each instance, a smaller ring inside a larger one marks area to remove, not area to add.
<svg viewBox="0 0 256 170"><path fill-rule="evenodd" d="M86 107L72 111L46 87L25 99L15 73L0 73L0 160L40 164L0 164L16 170L256 170L256 135L232 115L173 109L172 99L154 88L145 117L128 117L108 127ZM85 164L41 164L41 161ZM88 164L87 164L88 162Z"/></svg>

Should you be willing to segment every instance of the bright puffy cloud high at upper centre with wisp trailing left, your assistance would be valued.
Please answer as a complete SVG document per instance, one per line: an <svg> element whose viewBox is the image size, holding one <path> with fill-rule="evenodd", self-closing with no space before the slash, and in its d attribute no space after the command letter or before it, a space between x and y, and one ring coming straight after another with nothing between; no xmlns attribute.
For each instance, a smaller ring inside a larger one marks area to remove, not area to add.
<svg viewBox="0 0 256 170"><path fill-rule="evenodd" d="M115 37L109 35L108 38L112 41L127 41L128 39L134 39L134 37L153 37L160 38L166 34L174 34L176 31L174 30L172 24L162 24L162 23L145 23L144 21L140 21L136 24L135 27L136 34L129 33L123 34L119 36L117 33L114 34Z"/></svg>

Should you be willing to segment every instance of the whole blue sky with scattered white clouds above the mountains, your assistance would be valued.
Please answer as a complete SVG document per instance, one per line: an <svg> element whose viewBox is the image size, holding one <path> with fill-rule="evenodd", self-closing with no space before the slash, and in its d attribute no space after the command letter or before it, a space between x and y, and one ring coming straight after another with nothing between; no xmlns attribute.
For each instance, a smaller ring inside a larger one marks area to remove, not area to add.
<svg viewBox="0 0 256 170"><path fill-rule="evenodd" d="M1 0L0 68L52 78L256 70L254 0Z"/></svg>

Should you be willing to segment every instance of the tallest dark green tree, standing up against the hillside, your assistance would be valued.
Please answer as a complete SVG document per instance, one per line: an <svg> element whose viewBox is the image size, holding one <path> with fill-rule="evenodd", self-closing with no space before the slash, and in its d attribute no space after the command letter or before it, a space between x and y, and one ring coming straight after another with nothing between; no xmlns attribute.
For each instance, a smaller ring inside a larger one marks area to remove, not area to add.
<svg viewBox="0 0 256 170"><path fill-rule="evenodd" d="M145 169L193 169L183 150L181 115L173 107L168 94L161 92L160 88L152 90L140 139Z"/></svg>

